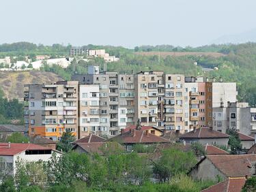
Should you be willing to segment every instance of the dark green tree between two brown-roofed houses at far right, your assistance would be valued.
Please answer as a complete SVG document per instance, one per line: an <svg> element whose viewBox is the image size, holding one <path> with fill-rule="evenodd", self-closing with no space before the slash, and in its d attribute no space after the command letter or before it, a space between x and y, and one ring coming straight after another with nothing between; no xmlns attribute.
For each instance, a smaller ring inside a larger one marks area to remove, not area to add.
<svg viewBox="0 0 256 192"><path fill-rule="evenodd" d="M226 133L230 135L228 142L231 149L230 153L239 154L242 150L242 144L238 132L236 131L236 129L227 129Z"/></svg>

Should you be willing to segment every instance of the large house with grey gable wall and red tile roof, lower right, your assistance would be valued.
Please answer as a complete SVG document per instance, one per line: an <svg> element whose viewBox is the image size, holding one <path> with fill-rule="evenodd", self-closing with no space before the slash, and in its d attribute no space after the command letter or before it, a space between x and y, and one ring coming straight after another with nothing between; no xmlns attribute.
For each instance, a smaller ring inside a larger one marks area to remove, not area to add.
<svg viewBox="0 0 256 192"><path fill-rule="evenodd" d="M207 155L189 174L197 180L255 176L256 155Z"/></svg>

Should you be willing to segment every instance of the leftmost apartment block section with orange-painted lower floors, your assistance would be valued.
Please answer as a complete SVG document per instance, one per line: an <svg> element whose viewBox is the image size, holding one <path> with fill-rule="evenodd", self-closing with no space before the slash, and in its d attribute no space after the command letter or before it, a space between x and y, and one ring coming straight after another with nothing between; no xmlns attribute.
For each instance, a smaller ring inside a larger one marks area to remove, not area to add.
<svg viewBox="0 0 256 192"><path fill-rule="evenodd" d="M30 135L42 135L51 140L63 131L77 135L78 82L30 84L25 86L25 126Z"/></svg>

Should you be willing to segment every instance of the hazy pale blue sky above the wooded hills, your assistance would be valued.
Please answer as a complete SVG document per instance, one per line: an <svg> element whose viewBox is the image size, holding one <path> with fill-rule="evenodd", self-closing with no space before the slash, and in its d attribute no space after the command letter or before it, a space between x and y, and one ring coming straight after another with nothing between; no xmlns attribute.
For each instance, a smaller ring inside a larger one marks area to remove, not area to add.
<svg viewBox="0 0 256 192"><path fill-rule="evenodd" d="M1 0L0 44L200 46L256 28L255 0Z"/></svg>

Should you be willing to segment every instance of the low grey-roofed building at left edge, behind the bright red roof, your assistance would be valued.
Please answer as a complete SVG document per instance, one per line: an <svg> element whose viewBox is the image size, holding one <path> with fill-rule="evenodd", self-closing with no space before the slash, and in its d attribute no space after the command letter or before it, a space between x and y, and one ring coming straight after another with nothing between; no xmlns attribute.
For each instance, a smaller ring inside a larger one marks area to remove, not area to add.
<svg viewBox="0 0 256 192"><path fill-rule="evenodd" d="M5 140L12 133L27 133L23 125L0 125L0 140Z"/></svg>

